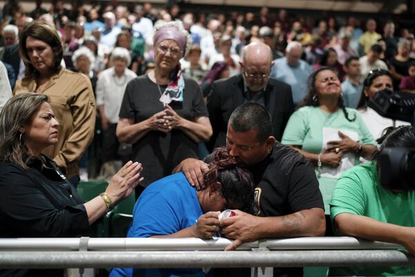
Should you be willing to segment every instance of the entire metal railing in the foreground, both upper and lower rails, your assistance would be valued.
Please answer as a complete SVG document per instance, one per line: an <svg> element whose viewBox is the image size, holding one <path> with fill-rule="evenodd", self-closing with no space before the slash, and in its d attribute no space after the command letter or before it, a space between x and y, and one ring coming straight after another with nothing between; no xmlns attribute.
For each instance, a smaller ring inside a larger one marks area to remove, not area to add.
<svg viewBox="0 0 415 277"><path fill-rule="evenodd" d="M415 265L415 257L398 244L349 237L259 240L223 251L231 243L224 238L0 239L0 268Z"/></svg>

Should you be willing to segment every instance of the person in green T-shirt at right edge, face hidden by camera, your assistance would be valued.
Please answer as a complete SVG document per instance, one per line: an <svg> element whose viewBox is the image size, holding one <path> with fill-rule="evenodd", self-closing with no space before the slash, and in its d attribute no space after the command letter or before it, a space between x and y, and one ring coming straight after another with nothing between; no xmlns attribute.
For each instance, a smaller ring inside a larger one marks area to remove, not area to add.
<svg viewBox="0 0 415 277"><path fill-rule="evenodd" d="M378 139L385 148L413 148L415 129L389 127ZM379 159L356 166L338 180L330 215L338 235L401 244L415 255L415 191L412 184L380 183ZM415 267L332 267L330 276L414 276Z"/></svg>

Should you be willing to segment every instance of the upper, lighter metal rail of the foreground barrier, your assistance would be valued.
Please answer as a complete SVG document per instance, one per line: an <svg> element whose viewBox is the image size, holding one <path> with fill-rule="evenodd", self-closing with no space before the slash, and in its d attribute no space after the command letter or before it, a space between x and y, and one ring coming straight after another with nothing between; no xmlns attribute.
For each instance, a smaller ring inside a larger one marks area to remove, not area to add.
<svg viewBox="0 0 415 277"><path fill-rule="evenodd" d="M84 238L82 238L84 239ZM81 238L3 238L0 251L77 251ZM232 240L213 238L86 238L88 251L182 251L182 250L223 250ZM352 237L284 238L257 240L242 244L237 250L255 248L269 250L299 249L398 249L399 244L358 240Z"/></svg>

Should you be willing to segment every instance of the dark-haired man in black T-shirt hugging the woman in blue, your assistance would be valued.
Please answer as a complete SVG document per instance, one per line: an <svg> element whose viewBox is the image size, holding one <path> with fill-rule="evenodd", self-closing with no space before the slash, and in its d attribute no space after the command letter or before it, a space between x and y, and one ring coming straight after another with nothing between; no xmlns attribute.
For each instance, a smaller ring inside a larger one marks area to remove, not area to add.
<svg viewBox="0 0 415 277"><path fill-rule="evenodd" d="M221 221L221 232L234 240L226 250L260 238L324 235L324 205L311 162L272 134L270 114L259 104L243 104L230 116L226 148L254 176L259 216L235 211L236 216ZM175 171L183 171L199 188L210 159L185 159ZM299 276L298 270L281 273Z"/></svg>

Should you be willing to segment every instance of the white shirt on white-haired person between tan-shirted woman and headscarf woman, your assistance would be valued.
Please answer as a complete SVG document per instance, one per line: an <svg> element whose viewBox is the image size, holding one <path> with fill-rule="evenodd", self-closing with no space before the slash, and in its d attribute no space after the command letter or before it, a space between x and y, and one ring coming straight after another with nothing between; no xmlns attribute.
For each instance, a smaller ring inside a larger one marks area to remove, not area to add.
<svg viewBox="0 0 415 277"><path fill-rule="evenodd" d="M126 68L121 78L118 78L113 67L105 69L98 76L95 89L96 101L98 107L104 105L104 113L109 122L118 123L125 87L129 81L136 77L136 73Z"/></svg>

